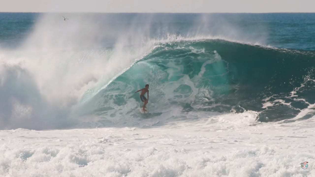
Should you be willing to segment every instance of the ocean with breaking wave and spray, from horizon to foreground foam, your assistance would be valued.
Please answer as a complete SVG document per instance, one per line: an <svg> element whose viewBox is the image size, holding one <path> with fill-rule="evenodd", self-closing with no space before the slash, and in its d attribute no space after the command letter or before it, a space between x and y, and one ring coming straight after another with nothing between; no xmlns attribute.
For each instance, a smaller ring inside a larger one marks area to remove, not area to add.
<svg viewBox="0 0 315 177"><path fill-rule="evenodd" d="M314 41L314 13L0 13L0 128L308 119Z"/></svg>

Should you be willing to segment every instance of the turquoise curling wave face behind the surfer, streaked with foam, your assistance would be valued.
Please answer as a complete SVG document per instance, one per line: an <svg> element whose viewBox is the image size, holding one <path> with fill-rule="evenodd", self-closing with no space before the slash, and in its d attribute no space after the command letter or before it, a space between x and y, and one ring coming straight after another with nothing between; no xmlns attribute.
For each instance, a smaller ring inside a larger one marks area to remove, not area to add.
<svg viewBox="0 0 315 177"><path fill-rule="evenodd" d="M223 40L161 43L88 105L106 121L139 117L142 103L134 92L150 84L151 117L170 110L178 110L179 117L252 110L260 121L288 119L315 103L314 59L314 52ZM302 118L311 115L308 111Z"/></svg>

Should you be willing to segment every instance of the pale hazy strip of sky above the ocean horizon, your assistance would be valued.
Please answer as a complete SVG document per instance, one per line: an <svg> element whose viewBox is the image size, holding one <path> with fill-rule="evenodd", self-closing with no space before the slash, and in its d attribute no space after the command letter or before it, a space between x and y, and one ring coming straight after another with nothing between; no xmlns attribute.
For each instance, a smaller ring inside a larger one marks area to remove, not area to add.
<svg viewBox="0 0 315 177"><path fill-rule="evenodd" d="M315 12L315 0L0 0L0 12Z"/></svg>

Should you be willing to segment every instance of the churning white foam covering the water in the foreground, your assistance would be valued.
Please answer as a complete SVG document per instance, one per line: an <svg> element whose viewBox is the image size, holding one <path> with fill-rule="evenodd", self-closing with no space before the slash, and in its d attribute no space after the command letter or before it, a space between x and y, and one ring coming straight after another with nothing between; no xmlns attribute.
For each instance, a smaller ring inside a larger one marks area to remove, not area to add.
<svg viewBox="0 0 315 177"><path fill-rule="evenodd" d="M155 128L2 130L0 176L315 176L315 119L257 124L255 115Z"/></svg>

